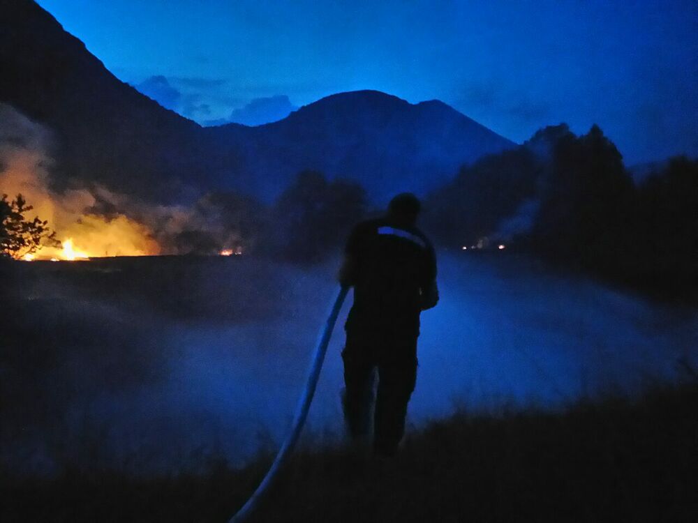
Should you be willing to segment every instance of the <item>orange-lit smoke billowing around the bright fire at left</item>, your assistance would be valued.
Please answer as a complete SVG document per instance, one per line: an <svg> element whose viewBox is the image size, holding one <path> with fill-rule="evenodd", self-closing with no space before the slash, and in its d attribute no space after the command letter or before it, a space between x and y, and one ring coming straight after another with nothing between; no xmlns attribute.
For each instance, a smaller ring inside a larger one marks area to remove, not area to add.
<svg viewBox="0 0 698 523"><path fill-rule="evenodd" d="M34 209L26 216L47 220L59 241L72 241L89 257L214 254L243 243L225 223L225 209L208 197L191 206L163 206L98 185L52 190L52 131L0 103L0 193L22 194ZM38 257L62 258L43 247Z"/></svg>

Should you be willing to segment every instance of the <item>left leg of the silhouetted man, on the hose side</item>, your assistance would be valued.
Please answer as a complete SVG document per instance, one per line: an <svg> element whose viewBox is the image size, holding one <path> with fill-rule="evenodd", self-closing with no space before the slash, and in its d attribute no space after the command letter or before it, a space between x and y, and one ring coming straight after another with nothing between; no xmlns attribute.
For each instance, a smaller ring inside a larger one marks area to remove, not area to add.
<svg viewBox="0 0 698 523"><path fill-rule="evenodd" d="M375 365L367 352L367 347L357 344L355 338L347 333L347 344L342 351L345 386L342 406L347 430L352 439L368 436L371 423Z"/></svg>

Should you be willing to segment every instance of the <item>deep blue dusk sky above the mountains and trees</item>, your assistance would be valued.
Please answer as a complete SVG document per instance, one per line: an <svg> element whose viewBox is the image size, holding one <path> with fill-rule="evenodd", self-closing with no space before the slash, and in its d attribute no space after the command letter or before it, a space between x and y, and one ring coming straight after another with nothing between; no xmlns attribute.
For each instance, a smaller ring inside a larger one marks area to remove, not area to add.
<svg viewBox="0 0 698 523"><path fill-rule="evenodd" d="M695 0L38 3L117 77L200 122L258 98L378 89L438 98L517 142L598 123L629 165L698 156Z"/></svg>

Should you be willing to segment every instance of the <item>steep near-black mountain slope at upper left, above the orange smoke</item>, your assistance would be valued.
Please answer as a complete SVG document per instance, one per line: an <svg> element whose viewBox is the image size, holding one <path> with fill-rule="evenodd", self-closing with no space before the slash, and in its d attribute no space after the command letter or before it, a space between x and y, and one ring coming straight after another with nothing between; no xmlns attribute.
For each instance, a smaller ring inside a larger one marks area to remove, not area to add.
<svg viewBox="0 0 698 523"><path fill-rule="evenodd" d="M198 126L119 81L34 1L0 0L0 26L0 101L54 130L55 180L158 199L205 180Z"/></svg>

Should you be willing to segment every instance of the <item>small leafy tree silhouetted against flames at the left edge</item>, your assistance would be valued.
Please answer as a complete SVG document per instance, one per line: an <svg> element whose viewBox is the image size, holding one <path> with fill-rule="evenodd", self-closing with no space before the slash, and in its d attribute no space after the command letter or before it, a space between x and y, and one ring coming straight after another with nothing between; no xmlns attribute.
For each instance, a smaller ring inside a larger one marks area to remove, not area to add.
<svg viewBox="0 0 698 523"><path fill-rule="evenodd" d="M34 217L25 218L33 207L18 194L8 201L7 195L0 199L0 257L22 259L33 255L41 245L59 246L56 233L47 227L47 221Z"/></svg>

